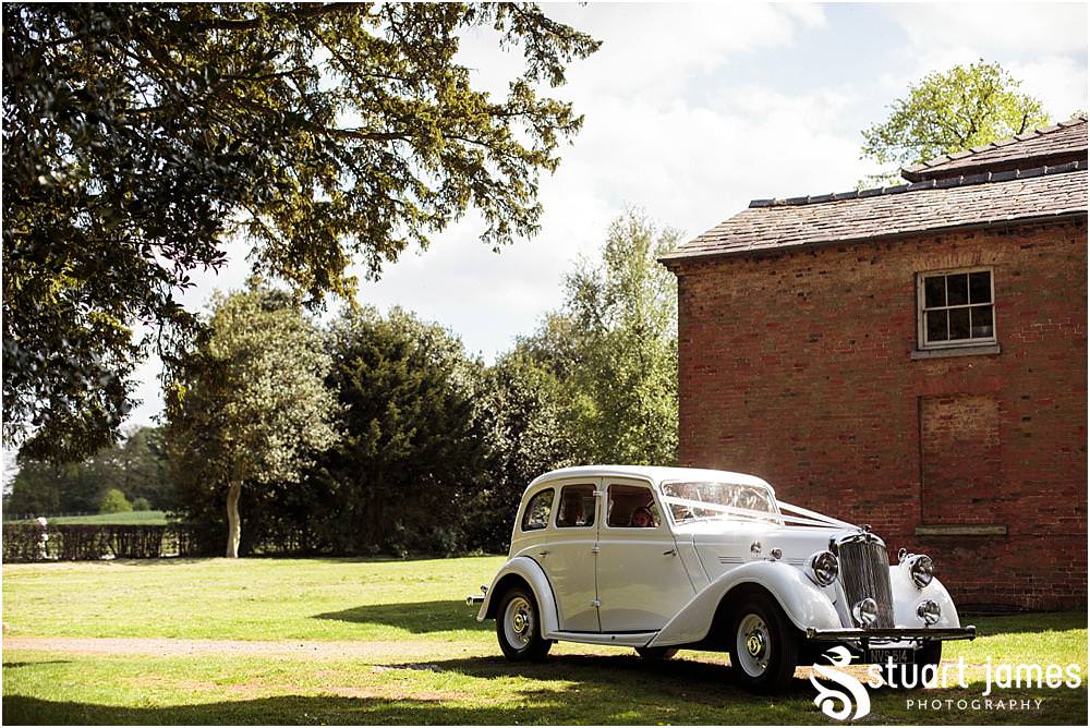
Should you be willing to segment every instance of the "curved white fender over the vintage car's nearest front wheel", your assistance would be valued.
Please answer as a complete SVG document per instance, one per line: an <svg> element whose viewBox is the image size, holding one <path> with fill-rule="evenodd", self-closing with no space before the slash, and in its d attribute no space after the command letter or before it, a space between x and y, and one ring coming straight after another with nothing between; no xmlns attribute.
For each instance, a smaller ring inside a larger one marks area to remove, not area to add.
<svg viewBox="0 0 1090 728"><path fill-rule="evenodd" d="M730 590L756 584L767 590L787 618L800 630L837 629L834 590L820 589L801 570L782 561L751 561L724 573L705 586L647 643L649 647L692 644L707 636L719 603Z"/></svg>

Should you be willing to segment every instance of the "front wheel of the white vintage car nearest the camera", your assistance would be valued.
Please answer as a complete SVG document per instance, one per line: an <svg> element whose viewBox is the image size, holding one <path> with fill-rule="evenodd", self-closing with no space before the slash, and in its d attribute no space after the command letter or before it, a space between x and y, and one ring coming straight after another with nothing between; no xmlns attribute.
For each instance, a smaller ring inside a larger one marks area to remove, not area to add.
<svg viewBox="0 0 1090 728"><path fill-rule="evenodd" d="M730 620L730 667L747 690L774 692L795 675L799 641L779 605L760 592L744 595Z"/></svg>

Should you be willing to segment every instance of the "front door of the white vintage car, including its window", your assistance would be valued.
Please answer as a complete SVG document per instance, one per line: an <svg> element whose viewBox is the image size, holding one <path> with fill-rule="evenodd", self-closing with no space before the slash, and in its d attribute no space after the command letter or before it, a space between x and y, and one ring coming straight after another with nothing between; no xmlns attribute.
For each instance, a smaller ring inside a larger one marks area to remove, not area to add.
<svg viewBox="0 0 1090 728"><path fill-rule="evenodd" d="M662 629L695 594L645 481L603 478L597 593L602 631Z"/></svg>

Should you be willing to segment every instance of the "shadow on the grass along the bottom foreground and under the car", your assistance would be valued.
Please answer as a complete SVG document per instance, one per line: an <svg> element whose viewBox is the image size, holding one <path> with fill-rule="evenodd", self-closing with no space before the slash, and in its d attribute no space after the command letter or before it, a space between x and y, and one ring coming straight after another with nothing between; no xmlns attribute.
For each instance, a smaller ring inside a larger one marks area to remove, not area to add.
<svg viewBox="0 0 1090 728"><path fill-rule="evenodd" d="M683 654L683 653L682 653ZM392 670L379 684L330 688L335 694L282 694L186 705L111 706L7 694L5 725L571 725L571 724L833 724L814 706L810 682L797 678L776 695L741 690L719 664L679 658L646 662L634 655L562 655L543 663L458 658L378 666ZM401 670L450 674L416 680ZM464 679L458 679L461 676ZM495 689L475 690L487 683ZM419 688L415 688L419 685ZM438 689L438 690L436 690ZM1086 725L1087 690L1007 690L993 697L1043 699L1033 709L959 708L979 699L982 682L968 689L869 691L870 724ZM378 691L376 694L375 691ZM386 691L389 694L383 694ZM347 695L344 691L351 691ZM359 694L353 694L358 692ZM920 708L908 701L954 704Z"/></svg>

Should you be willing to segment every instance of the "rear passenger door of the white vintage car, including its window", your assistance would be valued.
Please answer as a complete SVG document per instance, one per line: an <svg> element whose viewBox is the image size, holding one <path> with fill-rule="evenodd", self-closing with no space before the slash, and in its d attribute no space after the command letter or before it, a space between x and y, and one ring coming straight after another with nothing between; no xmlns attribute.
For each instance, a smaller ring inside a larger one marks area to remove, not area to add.
<svg viewBox="0 0 1090 728"><path fill-rule="evenodd" d="M598 632L594 569L598 531L598 478L572 478L553 484L557 507L547 554L540 560L553 586L560 629Z"/></svg>

